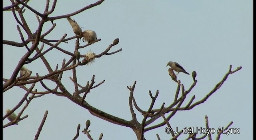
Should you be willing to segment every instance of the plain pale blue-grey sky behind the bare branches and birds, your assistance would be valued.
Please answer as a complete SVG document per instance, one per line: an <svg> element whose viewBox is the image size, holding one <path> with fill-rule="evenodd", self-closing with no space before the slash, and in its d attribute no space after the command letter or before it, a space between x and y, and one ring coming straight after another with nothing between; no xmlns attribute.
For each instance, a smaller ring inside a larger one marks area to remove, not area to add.
<svg viewBox="0 0 256 140"><path fill-rule="evenodd" d="M58 0L54 13L50 16L70 14L96 2L96 0ZM31 0L28 5L43 13L44 0ZM52 4L52 0L50 1ZM3 1L4 7L10 5L10 0ZM16 28L12 12L3 14L4 40L22 42ZM36 16L26 8L24 16L32 32L38 28ZM95 75L96 83L106 80L104 84L86 96L86 101L92 106L131 120L128 104L129 90L136 80L134 97L140 108L148 110L151 98L159 90L159 95L153 109L172 103L177 84L168 75L168 61L178 62L188 73L197 72L196 86L187 96L186 104L193 95L194 102L201 100L228 72L242 66L242 70L230 74L223 86L206 102L192 110L178 111L170 120L173 127L181 130L185 127L205 128L205 115L208 116L210 128L226 127L231 121L230 128L239 128L240 134L222 134L222 140L252 140L252 0L105 0L99 6L90 8L76 16L72 16L85 30L94 30L100 42L80 49L81 54L92 50L96 54L103 52L115 38L120 42L110 52L122 48L117 54L96 58L88 66L76 69L78 83L81 85L91 81ZM46 39L58 40L65 33L74 36L72 27L66 18L54 20L56 28ZM43 33L52 26L46 22ZM27 36L24 34L25 39ZM41 46L42 43L39 44ZM86 43L80 42L80 45ZM29 44L30 46L31 44ZM61 43L58 47L74 52L75 40L68 44ZM49 48L45 45L44 50ZM10 78L20 58L26 53L26 48L3 45L3 76ZM32 55L33 56L33 55ZM50 66L61 66L62 60L70 56L58 50L45 54ZM26 68L32 71L32 76L48 74L41 59ZM18 74L19 75L19 74ZM72 71L65 72L62 83L69 92L74 92L74 84L69 79ZM191 75L180 73L178 80L187 90L193 83ZM44 81L47 86L54 88L55 84ZM26 85L30 87L30 85ZM45 91L40 83L35 89ZM14 108L26 91L14 87L3 94L3 115L6 108ZM24 104L16 110L16 114ZM77 140L88 139L81 131L85 128L86 120L91 121L90 134L98 139L103 133L103 140L135 140L136 135L130 128L112 124L92 116L88 110L81 108L70 100L54 94L46 94L32 100L22 116L29 117L19 122L19 125L4 128L4 140L31 140L48 110L48 117L39 140L70 140L76 134L78 124L81 124L80 136ZM134 108L135 110L135 108ZM137 118L142 122L143 116L138 111ZM4 124L9 121L5 119ZM162 122L158 119L154 124ZM171 138L164 132L165 126L145 133L147 140L156 140L159 134L161 140ZM202 136L198 134L197 136ZM182 134L178 140L187 138ZM216 134L212 134L216 138Z"/></svg>

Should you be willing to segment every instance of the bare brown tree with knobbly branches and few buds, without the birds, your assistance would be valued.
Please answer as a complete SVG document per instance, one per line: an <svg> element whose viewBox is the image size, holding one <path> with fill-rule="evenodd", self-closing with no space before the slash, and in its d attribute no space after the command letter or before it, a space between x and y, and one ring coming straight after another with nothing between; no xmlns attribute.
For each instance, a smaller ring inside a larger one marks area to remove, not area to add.
<svg viewBox="0 0 256 140"><path fill-rule="evenodd" d="M116 40L114 40L113 43L110 44L106 48L106 50L102 50L102 53L100 53L100 54L94 54L94 52L90 52L85 55L80 55L80 53L78 55L75 53L78 52L79 49L85 48L85 47L90 46L96 42L99 42L101 39L96 39L96 40L90 41L88 44L86 44L84 46L80 46L80 43L79 43L80 38L82 38L83 35L79 34L79 32L78 32L78 34L74 34L74 36L69 37L69 38L66 38L67 34L64 34L62 36L62 38L60 38L59 40L50 40L50 39L46 38L46 36L50 32L54 32L54 28L56 27L56 24L54 23L55 20L59 20L62 18L68 18L70 16L80 14L81 12L84 12L89 8L98 6L99 4L104 2L104 0L99 0L98 2L90 4L82 9L78 9L76 12L73 12L70 14L60 15L60 16L50 16L52 14L52 12L54 12L54 9L56 7L56 1L57 0L54 0L52 2L52 7L49 10L50 0L46 0L46 6L45 6L44 13L40 13L36 9L29 6L28 5L29 0L11 0L10 6L6 6L3 8L4 12L7 12L7 11L12 12L14 18L16 19L17 31L19 32L20 39L21 39L21 42L14 42L12 40L3 40L4 44L12 46L12 47L25 47L27 49L26 54L24 54L24 56L20 59L19 63L17 64L16 68L13 70L13 74L10 77L10 79L6 79L6 78L3 79L3 81L4 81L3 92L8 91L15 86L18 86L26 91L26 94L20 100L20 102L11 111L9 111L8 113L6 113L3 116L3 119L8 118L17 108L22 108L21 105L24 102L26 102L25 106L23 106L21 112L19 112L17 117L15 119L11 120L8 124L5 124L3 126L4 128L14 125L14 124L17 124L19 121L26 119L28 117L28 115L21 117L22 113L28 107L30 101L33 100L34 98L39 98L45 94L55 94L56 96L60 96L60 98L62 98L62 97L68 98L69 100L74 102L74 104L78 104L81 108L88 110L92 115L94 115L98 118L101 118L108 122L112 122L113 124L131 128L134 131L134 133L136 134L138 140L144 140L145 139L144 132L147 132L152 129L156 129L156 128L159 128L159 127L165 126L165 125L167 125L168 128L172 128L172 125L169 122L170 122L170 119L176 114L176 112L178 112L180 110L191 110L195 106L198 106L198 105L204 103L210 96L212 96L222 86L222 84L224 84L224 82L227 80L227 78L230 74L233 74L242 68L242 67L238 67L235 70L232 70L232 66L230 65L229 70L224 75L223 79L220 80L220 82L217 83L216 86L208 94L206 94L206 96L204 98L195 102L194 99L196 97L192 96L192 98L190 99L188 104L183 104L183 102L186 99L187 95L190 94L190 91L196 86L197 80L195 78L195 75L193 75L194 82L188 89L184 88L184 86L183 86L183 84L181 84L180 80L177 81L176 77L174 77L174 78L172 77L172 79L174 79L174 81L177 82L177 89L176 89L176 94L174 96L173 102L171 104L162 103L162 106L154 107L154 103L158 97L159 92L157 90L156 93L153 95L152 92L149 91L149 96L151 97L151 104L148 107L148 110L142 110L136 104L136 100L134 98L134 89L136 86L136 81L135 81L132 86L127 86L128 90L130 90L129 106L130 106L130 113L132 115L132 120L124 120L122 118L108 114L102 110L94 108L93 106L88 104L88 102L86 102L86 95L90 91L92 91L94 88L97 88L98 86L103 84L104 80L100 83L96 83L94 81L94 75L93 75L90 82L88 81L86 85L81 85L81 84L77 83L77 74L76 74L77 67L84 66L84 65L92 62L94 60L94 58L100 58L103 55L112 55L112 54L122 51L122 49L113 50L112 52L110 51L110 50L112 50L112 46L115 46L118 44L119 39L117 38ZM31 32L29 23L27 23L26 19L24 18L24 14L26 13L25 9L28 9L28 10L34 12L34 14L36 14L36 18L38 20L38 28L37 28L36 32L34 32L34 33ZM42 28L46 22L51 22L52 28L50 28L47 32L42 32ZM21 28L25 32L22 32ZM27 38L24 37L25 36L24 34L26 34ZM76 40L76 44L74 44L74 46L75 46L74 53L68 52L60 47L61 44L66 43L69 40ZM40 42L42 42L42 46L39 47ZM28 44L31 44L31 45L28 46ZM48 45L49 48L43 51L44 45ZM44 57L44 54L50 52L53 49L57 49L61 53L64 53L64 54L70 56L70 60L66 61L64 59L60 67L57 65L55 68L52 68L49 64L49 61ZM34 56L32 56L33 52L36 52L36 54ZM48 74L39 75L36 72L33 72L36 74L34 74L34 76L31 76L32 72L30 72L30 70L26 69L23 66L28 63L34 62L38 58L40 58L42 60L42 62L44 63L44 65L46 66L46 68L48 70ZM82 62L77 62L76 60L78 60L78 58L83 58ZM74 89L75 89L74 91L68 91L66 89L66 87L62 84L62 80L63 80L62 75L64 72L67 72L69 70L72 70L72 77L70 77L70 80L72 80L72 82L74 83ZM18 76L19 72L20 72L20 76ZM52 82L54 82L56 84L56 87L49 88L48 86L46 86L44 84L44 81L46 81L46 80L51 80ZM36 83L40 83L42 85L42 87L45 89L45 91L34 90L34 86ZM26 88L26 86L25 86L26 84L31 85L30 88ZM30 95L30 97L28 97L29 95ZM134 107L136 108L136 110L138 110L141 113L142 116L144 116L142 122L139 122L137 120L136 115L138 115L138 114L135 114ZM153 109L153 107L155 109ZM40 132L43 128L44 122L46 121L47 114L48 114L48 111L46 110L44 117L42 119L42 123L40 124L40 126L38 128L38 132L35 135L35 139L38 139L38 137L40 135ZM161 123L158 123L156 125L150 125L153 122L155 122L155 120L157 120L159 118L162 118ZM206 122L206 129L209 130L210 128L209 128L207 116L205 116L205 122ZM230 122L230 124L228 124L225 129L227 129L231 124L232 124L232 122ZM90 126L90 124L86 124L86 125L87 125L86 126L87 128L84 128L84 130L82 130L82 132L84 134L86 134L90 140L92 140L92 137L90 136L90 130L88 130L88 127ZM166 130L166 131L168 131L168 130ZM219 131L217 139L220 139L220 134L223 131L224 130ZM78 124L77 132L76 132L76 135L74 136L73 140L78 138L79 132L80 132L80 124ZM170 132L170 133L172 135L172 138L171 138L172 140L176 140L176 138L178 138L178 136L180 136L182 134L182 132L180 132L180 134L174 134L174 132ZM103 134L100 134L99 139L101 139L102 136L103 136ZM200 140L200 139L206 138L206 136L208 136L209 140L212 139L211 135L204 135L204 136L201 136L200 138L196 137L196 133L188 134L187 139ZM160 137L161 136L156 134L156 138L158 138L158 140L160 140Z"/></svg>

